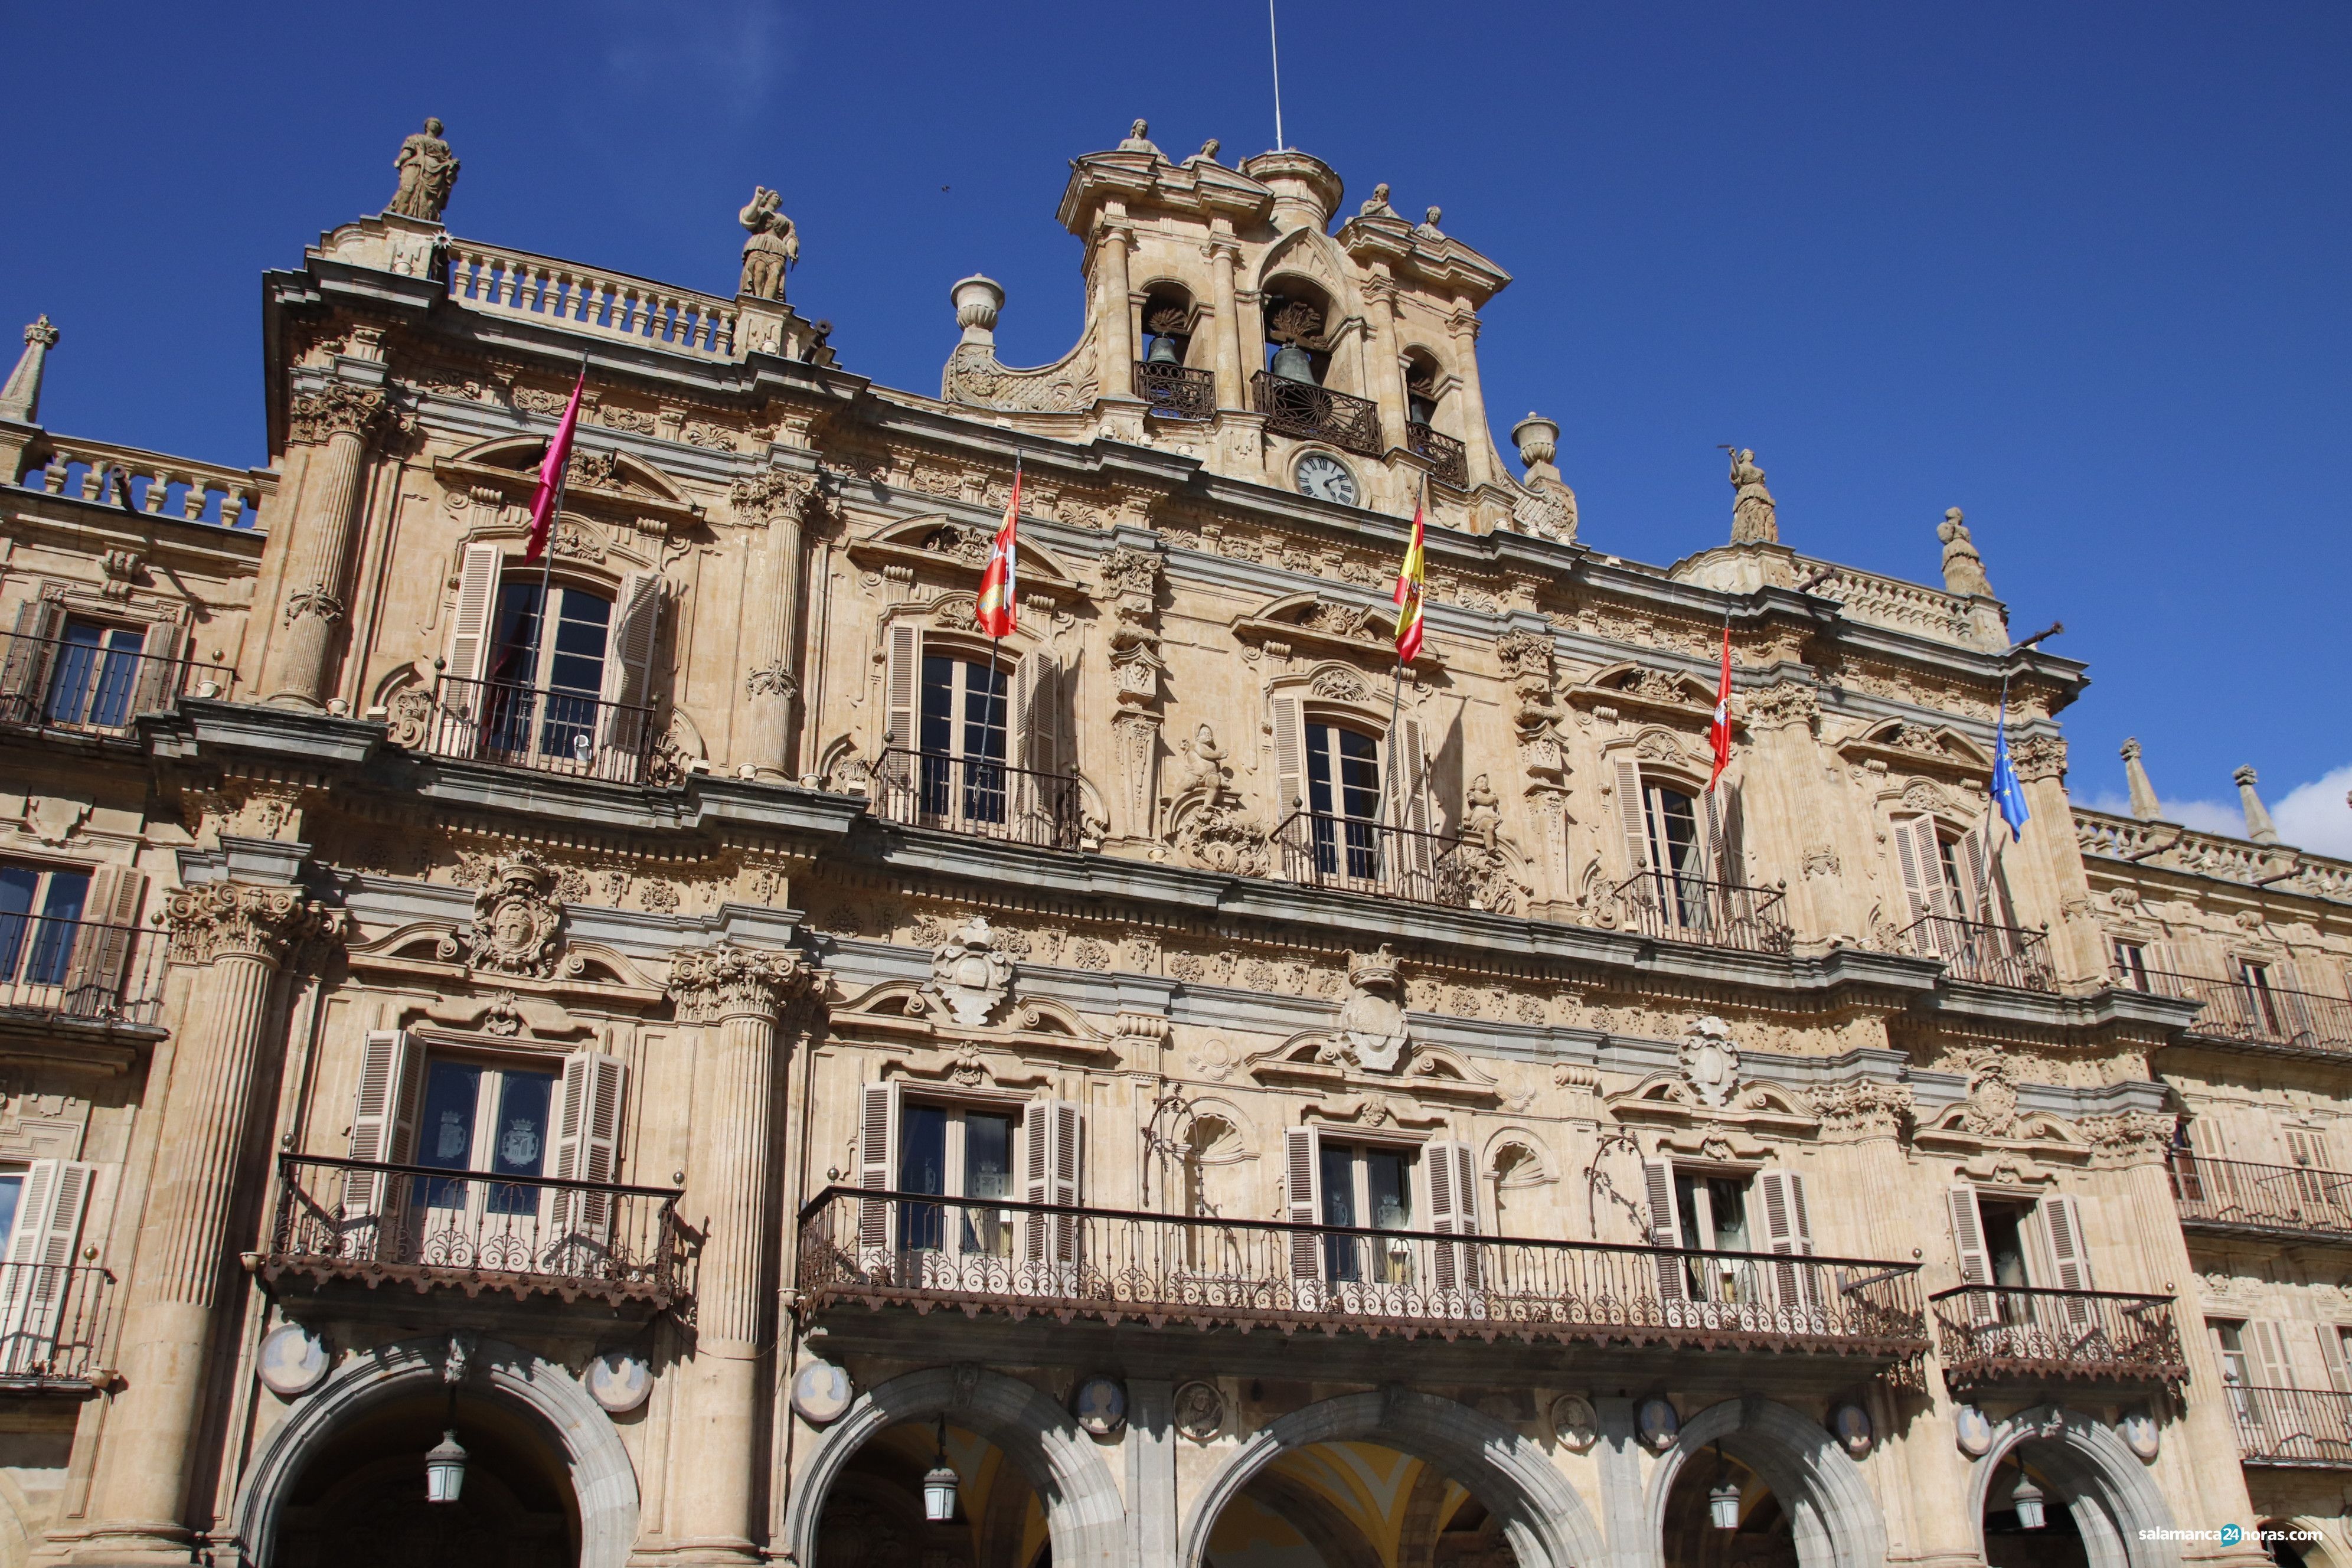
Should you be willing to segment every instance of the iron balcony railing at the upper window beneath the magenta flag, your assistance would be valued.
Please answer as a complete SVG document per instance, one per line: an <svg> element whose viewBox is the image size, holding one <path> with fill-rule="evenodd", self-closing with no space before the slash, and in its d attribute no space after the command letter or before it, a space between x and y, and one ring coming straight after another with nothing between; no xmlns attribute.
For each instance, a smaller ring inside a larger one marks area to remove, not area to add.
<svg viewBox="0 0 2352 1568"><path fill-rule="evenodd" d="M433 691L393 698L393 745L468 757L536 773L675 783L654 778L654 710L588 691L539 691L445 675Z"/></svg>

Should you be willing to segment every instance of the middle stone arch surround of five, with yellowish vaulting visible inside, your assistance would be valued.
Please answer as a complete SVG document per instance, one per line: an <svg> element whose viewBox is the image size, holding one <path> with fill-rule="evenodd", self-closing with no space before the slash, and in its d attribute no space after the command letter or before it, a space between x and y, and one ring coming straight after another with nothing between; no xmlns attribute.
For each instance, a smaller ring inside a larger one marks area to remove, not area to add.
<svg viewBox="0 0 2352 1568"><path fill-rule="evenodd" d="M1503 1521L1519 1568L1583 1568L1606 1559L1583 1497L1534 1439L1465 1403L1390 1387L1310 1403L1242 1441L1185 1512L1178 1568L1207 1568L1218 1514L1279 1453L1352 1441L1385 1443L1446 1472ZM1061 1563L1058 1552L1054 1561Z"/></svg>

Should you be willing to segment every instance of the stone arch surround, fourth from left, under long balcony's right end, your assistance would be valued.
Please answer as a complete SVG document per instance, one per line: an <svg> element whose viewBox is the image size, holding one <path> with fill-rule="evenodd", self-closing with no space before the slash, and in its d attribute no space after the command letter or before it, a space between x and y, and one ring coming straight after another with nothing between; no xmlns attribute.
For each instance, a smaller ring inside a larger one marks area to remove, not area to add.
<svg viewBox="0 0 2352 1568"><path fill-rule="evenodd" d="M1818 1420L1750 1394L1686 1420L1649 1474L1649 1523L1642 1540L1653 1568L1665 1563L1665 1502L1675 1493L1675 1479L1691 1455L1715 1443L1757 1472L1788 1509L1804 1568L1879 1568L1886 1561L1886 1521L1860 1465Z"/></svg>

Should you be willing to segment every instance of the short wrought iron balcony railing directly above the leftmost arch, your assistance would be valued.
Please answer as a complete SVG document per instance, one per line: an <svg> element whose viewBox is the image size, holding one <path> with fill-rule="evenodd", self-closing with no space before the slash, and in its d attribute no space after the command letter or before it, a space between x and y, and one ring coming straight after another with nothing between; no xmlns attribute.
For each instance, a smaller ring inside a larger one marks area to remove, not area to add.
<svg viewBox="0 0 2352 1568"><path fill-rule="evenodd" d="M280 1154L268 1279L405 1281L668 1307L677 1192Z"/></svg>

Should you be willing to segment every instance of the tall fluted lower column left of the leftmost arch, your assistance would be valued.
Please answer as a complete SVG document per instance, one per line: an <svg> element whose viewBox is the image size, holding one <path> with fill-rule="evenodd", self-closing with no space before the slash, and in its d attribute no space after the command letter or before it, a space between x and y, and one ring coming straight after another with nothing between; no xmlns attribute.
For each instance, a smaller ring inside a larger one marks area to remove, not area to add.
<svg viewBox="0 0 2352 1568"><path fill-rule="evenodd" d="M214 882L172 893L167 919L172 959L193 966L195 985L122 1324L125 1392L106 1418L92 1497L99 1523L75 1552L96 1547L108 1561L125 1552L186 1561L188 1458L235 1251L228 1218L254 1121L254 1072L268 1048L270 980L299 943L329 931L332 917L301 889Z"/></svg>

